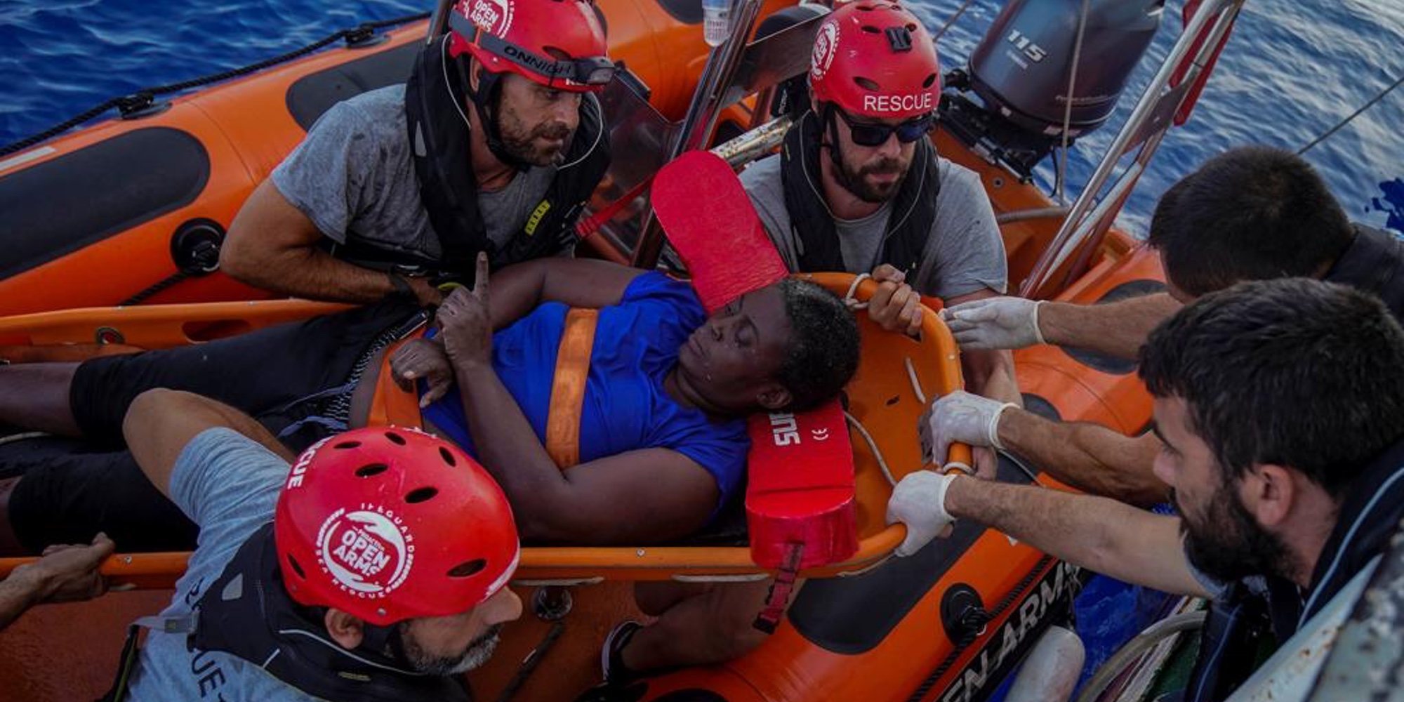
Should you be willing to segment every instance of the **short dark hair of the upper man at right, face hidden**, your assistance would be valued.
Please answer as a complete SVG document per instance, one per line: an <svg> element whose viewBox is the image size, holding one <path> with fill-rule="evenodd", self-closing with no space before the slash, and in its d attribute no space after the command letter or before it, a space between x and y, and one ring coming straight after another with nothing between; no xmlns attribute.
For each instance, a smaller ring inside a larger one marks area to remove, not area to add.
<svg viewBox="0 0 1404 702"><path fill-rule="evenodd" d="M1316 168L1268 146L1227 150L1171 185L1147 240L1189 295L1238 281L1320 277L1355 232Z"/></svg>

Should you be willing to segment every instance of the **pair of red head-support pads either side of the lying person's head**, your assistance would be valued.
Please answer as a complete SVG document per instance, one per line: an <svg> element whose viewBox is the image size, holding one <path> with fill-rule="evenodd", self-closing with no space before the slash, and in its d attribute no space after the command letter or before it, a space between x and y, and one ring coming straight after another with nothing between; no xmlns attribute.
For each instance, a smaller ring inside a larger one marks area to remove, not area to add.
<svg viewBox="0 0 1404 702"><path fill-rule="evenodd" d="M708 313L789 275L720 157L691 152L668 163L653 181L651 201ZM748 427L746 517L755 563L781 567L795 545L803 546L802 569L856 553L854 453L838 400L804 413L760 414Z"/></svg>

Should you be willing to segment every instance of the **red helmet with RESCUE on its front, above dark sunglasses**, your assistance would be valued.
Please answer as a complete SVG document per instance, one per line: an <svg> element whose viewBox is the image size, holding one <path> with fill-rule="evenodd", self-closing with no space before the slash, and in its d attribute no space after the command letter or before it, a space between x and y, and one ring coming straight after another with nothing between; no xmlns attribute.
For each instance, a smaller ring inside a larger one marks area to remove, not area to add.
<svg viewBox="0 0 1404 702"><path fill-rule="evenodd" d="M899 4L858 0L834 10L819 27L809 87L814 100L851 115L907 119L931 114L941 98L936 45Z"/></svg>

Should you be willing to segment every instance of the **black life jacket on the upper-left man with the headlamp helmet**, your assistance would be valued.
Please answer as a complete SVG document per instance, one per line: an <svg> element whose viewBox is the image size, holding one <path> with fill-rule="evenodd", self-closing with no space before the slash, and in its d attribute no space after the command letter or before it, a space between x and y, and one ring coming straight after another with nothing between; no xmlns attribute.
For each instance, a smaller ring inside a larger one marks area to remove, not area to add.
<svg viewBox="0 0 1404 702"><path fill-rule="evenodd" d="M410 157L420 181L420 202L438 234L442 257L382 249L350 239L337 256L371 268L400 267L470 282L479 251L487 251L493 270L514 263L555 256L577 240L576 219L609 167L609 135L604 111L594 94L580 104L580 125L562 166L532 209L521 232L505 246L487 237L477 209L468 118L468 70L463 59L448 56L446 37L420 51L404 88L404 115Z"/></svg>

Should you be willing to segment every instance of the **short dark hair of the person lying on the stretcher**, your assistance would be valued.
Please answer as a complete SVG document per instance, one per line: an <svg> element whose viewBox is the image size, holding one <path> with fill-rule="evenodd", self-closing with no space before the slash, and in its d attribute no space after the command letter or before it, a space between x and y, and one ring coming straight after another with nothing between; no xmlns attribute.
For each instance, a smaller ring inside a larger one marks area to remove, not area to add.
<svg viewBox="0 0 1404 702"><path fill-rule="evenodd" d="M858 372L858 322L844 300L797 278L781 281L790 341L776 380L790 392L786 410L807 410L830 397Z"/></svg>

